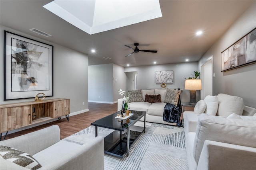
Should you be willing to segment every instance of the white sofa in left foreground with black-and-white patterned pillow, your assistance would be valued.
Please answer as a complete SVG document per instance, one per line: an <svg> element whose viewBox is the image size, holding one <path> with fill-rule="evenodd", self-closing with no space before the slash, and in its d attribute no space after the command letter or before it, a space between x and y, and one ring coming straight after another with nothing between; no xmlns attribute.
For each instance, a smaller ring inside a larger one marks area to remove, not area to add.
<svg viewBox="0 0 256 170"><path fill-rule="evenodd" d="M60 140L57 125L0 141L0 145L31 155L42 167L39 170L104 169L104 139L96 137L83 145ZM0 155L1 170L28 170Z"/></svg>

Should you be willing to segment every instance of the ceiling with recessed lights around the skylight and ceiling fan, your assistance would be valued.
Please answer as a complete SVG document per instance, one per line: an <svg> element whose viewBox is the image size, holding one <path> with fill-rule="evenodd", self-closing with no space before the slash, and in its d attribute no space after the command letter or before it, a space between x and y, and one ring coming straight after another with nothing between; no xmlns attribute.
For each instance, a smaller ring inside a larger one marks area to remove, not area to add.
<svg viewBox="0 0 256 170"><path fill-rule="evenodd" d="M0 24L86 53L89 65L142 66L154 61L157 64L182 63L185 59L198 61L254 0L160 0L162 17L93 35L43 8L49 2L0 0ZM44 37L29 31L31 28L52 36ZM203 31L201 36L195 35L198 30ZM124 57L133 52L124 45L134 47L134 43L141 44L139 49L158 52ZM96 53L91 53L91 49Z"/></svg>

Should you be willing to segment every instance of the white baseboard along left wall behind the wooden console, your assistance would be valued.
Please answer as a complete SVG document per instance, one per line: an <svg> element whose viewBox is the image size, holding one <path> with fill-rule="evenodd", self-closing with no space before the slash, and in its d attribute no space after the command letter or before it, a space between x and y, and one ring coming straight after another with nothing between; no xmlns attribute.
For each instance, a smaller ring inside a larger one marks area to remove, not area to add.
<svg viewBox="0 0 256 170"><path fill-rule="evenodd" d="M68 116L70 117L70 116L78 115L80 113L84 113L84 112L87 112L87 111L89 111L89 109L84 109L84 110L76 111L76 112L70 113ZM66 119L66 116L62 116L61 118L62 119ZM51 120L44 121L44 122L40 122L40 123L36 123L36 124L29 125L29 126L26 126L26 127L21 127L19 129L14 129L14 130L8 131L8 134L19 132L19 131L23 131L25 129L29 129L29 128L32 128L32 127L40 126L40 125L43 125L43 124L46 124L46 123L50 123L50 122L56 121L56 120L58 120L58 118L51 119ZM4 137L5 134L6 134L6 132L2 133L2 138Z"/></svg>

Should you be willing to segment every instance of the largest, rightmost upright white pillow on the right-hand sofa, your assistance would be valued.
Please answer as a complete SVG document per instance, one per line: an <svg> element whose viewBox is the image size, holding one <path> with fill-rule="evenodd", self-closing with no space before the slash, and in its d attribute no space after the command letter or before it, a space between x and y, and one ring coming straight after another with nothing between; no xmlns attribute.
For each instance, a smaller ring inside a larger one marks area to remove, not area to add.
<svg viewBox="0 0 256 170"><path fill-rule="evenodd" d="M244 110L244 101L237 96L230 96L228 94L218 94L219 107L217 116L228 116L232 113L242 115Z"/></svg>

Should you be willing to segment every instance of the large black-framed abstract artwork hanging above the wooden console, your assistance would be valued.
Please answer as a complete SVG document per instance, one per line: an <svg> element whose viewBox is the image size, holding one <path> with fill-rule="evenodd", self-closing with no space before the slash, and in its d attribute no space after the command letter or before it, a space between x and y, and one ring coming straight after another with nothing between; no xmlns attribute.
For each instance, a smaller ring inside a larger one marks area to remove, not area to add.
<svg viewBox="0 0 256 170"><path fill-rule="evenodd" d="M53 96L53 46L4 31L4 100Z"/></svg>

